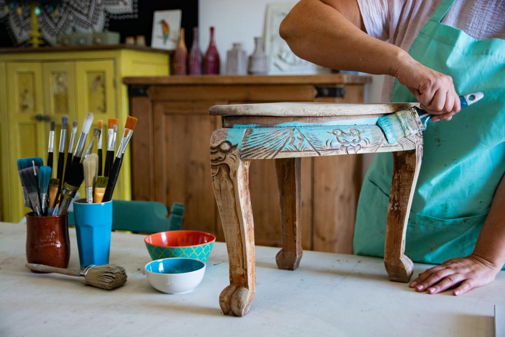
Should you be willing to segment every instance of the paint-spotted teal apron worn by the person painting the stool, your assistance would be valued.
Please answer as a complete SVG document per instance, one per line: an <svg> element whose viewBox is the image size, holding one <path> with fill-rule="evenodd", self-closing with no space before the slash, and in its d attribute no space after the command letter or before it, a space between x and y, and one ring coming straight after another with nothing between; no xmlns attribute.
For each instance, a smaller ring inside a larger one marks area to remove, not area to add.
<svg viewBox="0 0 505 337"><path fill-rule="evenodd" d="M476 40L440 23L453 2L442 1L409 54L450 75L458 94L483 91L484 98L448 122L429 122L423 132L424 155L405 252L417 262L442 263L472 253L505 172L505 40ZM416 98L395 80L391 102L416 102ZM365 176L355 254L384 255L392 166L391 153L378 154Z"/></svg>

